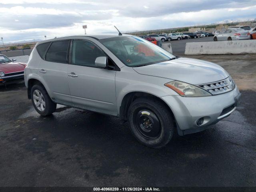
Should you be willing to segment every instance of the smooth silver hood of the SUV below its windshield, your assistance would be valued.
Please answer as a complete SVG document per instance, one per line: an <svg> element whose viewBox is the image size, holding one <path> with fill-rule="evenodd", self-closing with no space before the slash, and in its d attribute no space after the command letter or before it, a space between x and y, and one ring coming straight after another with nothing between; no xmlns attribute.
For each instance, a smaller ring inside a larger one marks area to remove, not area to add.
<svg viewBox="0 0 256 192"><path fill-rule="evenodd" d="M139 74L168 78L189 84L216 82L229 76L228 72L217 64L191 58L177 58L133 69Z"/></svg>

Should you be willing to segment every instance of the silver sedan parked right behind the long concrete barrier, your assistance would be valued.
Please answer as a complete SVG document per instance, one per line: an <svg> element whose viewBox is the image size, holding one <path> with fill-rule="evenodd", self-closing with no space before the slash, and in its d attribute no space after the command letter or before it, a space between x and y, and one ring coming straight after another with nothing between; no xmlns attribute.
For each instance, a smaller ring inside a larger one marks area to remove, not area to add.
<svg viewBox="0 0 256 192"><path fill-rule="evenodd" d="M250 39L250 33L241 28L224 29L216 34L214 41L232 41L232 40L246 40Z"/></svg>

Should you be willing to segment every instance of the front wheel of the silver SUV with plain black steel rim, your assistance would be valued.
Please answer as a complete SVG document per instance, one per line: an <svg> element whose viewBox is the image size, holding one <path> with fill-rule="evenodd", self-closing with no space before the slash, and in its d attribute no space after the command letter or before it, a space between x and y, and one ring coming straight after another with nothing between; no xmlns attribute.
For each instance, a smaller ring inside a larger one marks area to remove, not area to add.
<svg viewBox="0 0 256 192"><path fill-rule="evenodd" d="M170 109L154 98L134 100L128 109L128 121L134 137L152 148L165 146L174 132Z"/></svg>

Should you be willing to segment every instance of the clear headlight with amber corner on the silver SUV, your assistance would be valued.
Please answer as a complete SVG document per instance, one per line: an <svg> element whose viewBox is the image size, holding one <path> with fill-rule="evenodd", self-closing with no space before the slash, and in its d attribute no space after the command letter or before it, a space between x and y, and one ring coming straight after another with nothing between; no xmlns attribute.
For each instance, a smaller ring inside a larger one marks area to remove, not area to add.
<svg viewBox="0 0 256 192"><path fill-rule="evenodd" d="M190 85L188 83L184 83L180 81L172 81L164 85L168 88L171 88L172 90L174 90L180 96L183 96L183 97L205 97L205 96L212 95L200 87Z"/></svg>

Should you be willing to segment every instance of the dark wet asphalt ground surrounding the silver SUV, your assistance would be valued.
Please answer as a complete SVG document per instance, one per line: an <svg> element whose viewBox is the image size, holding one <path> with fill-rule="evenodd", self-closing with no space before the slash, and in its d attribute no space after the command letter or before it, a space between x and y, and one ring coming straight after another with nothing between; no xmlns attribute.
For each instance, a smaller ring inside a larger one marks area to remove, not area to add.
<svg viewBox="0 0 256 192"><path fill-rule="evenodd" d="M23 83L0 87L0 186L256 186L256 56L194 58L223 66L241 105L162 149L139 144L116 117L66 106L42 117Z"/></svg>

